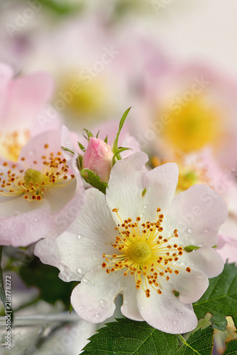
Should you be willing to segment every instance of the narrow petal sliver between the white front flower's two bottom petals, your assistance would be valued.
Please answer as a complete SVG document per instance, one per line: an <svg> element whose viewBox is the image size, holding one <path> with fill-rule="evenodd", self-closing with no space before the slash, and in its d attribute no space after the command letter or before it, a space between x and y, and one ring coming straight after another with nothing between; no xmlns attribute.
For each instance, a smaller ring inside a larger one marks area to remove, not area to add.
<svg viewBox="0 0 237 355"><path fill-rule="evenodd" d="M122 276L123 277L123 276ZM138 308L138 302L136 302L136 295L138 290L135 287L135 280L130 275L123 279L123 305L121 307L121 313L124 317L130 320L143 321L143 317L140 315Z"/></svg>

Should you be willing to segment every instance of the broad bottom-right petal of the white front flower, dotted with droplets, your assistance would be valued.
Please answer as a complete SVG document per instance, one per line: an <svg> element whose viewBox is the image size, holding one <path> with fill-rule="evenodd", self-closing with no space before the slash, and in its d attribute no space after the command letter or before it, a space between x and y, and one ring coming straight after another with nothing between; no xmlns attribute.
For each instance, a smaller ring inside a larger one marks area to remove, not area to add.
<svg viewBox="0 0 237 355"><path fill-rule="evenodd" d="M173 293L161 295L151 288L150 297L138 290L138 307L145 322L152 327L170 334L191 332L197 327L197 317L192 305L184 305Z"/></svg>

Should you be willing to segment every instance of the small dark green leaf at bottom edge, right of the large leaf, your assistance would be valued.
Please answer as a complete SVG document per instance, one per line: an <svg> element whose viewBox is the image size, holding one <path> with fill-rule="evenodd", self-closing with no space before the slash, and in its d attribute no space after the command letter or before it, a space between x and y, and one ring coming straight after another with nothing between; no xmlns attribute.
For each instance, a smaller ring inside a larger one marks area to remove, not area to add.
<svg viewBox="0 0 237 355"><path fill-rule="evenodd" d="M189 335L185 340L182 335L178 335L183 345L177 355L211 355L214 346L214 329L210 325L205 329L198 329L197 332Z"/></svg>

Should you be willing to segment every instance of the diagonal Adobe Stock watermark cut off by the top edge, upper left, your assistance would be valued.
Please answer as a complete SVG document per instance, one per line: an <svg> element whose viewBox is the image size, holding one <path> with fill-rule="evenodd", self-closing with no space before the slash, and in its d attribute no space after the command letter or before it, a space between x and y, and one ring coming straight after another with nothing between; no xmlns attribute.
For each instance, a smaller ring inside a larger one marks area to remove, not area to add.
<svg viewBox="0 0 237 355"><path fill-rule="evenodd" d="M21 28L25 27L34 18L35 13L38 13L43 8L43 4L47 4L49 1L27 0L26 3L28 6L22 12L17 11L15 13L13 23L5 23L6 31L8 31L10 37L12 38L14 33L21 31Z"/></svg>

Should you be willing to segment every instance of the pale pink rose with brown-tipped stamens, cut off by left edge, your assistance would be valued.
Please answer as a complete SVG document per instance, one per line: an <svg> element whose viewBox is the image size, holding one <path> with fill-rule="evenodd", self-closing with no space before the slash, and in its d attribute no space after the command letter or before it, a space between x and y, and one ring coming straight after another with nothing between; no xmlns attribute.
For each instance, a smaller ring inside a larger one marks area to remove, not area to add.
<svg viewBox="0 0 237 355"><path fill-rule="evenodd" d="M0 165L0 245L55 238L77 217L84 187L60 147L60 130L45 131L28 141L16 163Z"/></svg>

